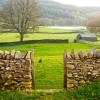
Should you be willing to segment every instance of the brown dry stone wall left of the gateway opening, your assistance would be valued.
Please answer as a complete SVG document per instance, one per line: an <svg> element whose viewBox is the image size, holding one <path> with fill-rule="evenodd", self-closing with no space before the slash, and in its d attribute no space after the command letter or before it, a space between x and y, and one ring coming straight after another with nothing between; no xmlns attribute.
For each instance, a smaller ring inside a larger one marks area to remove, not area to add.
<svg viewBox="0 0 100 100"><path fill-rule="evenodd" d="M0 51L0 90L32 89L32 53Z"/></svg>

